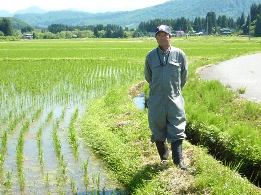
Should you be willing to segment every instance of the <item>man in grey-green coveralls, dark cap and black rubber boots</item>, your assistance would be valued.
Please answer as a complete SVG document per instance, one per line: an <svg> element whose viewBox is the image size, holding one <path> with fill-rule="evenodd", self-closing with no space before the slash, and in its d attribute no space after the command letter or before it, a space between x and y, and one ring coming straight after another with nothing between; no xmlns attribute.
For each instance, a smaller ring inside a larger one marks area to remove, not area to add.
<svg viewBox="0 0 261 195"><path fill-rule="evenodd" d="M167 141L171 143L174 164L188 170L182 163L186 115L181 93L188 77L187 57L182 50L170 45L172 34L168 26L160 25L155 32L159 46L146 56L144 71L150 89L151 142L156 143L161 161L168 159Z"/></svg>

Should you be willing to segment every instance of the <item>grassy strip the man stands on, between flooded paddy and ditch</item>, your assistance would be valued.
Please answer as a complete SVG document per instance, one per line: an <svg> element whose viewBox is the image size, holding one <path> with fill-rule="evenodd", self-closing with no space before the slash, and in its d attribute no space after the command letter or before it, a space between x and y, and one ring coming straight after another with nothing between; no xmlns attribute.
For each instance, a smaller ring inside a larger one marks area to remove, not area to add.
<svg viewBox="0 0 261 195"><path fill-rule="evenodd" d="M114 104L115 99L118 104ZM230 194L229 189L234 194L259 194L247 180L235 177L234 171L208 156L205 150L186 142L184 153L190 152L186 156L190 158L187 166L193 167L196 175L175 168L171 161L160 166L157 149L149 143L151 132L147 117L147 110L139 111L135 107L125 87L115 87L103 98L89 104L82 121L82 135L86 143L101 156L107 168L131 194L153 194L157 191L158 194L206 192L225 195ZM124 123L126 120L130 122ZM118 126L118 123L123 125ZM186 180L185 185L179 179L175 181L180 184L176 192L171 188L175 178ZM228 188L223 189L226 184Z"/></svg>

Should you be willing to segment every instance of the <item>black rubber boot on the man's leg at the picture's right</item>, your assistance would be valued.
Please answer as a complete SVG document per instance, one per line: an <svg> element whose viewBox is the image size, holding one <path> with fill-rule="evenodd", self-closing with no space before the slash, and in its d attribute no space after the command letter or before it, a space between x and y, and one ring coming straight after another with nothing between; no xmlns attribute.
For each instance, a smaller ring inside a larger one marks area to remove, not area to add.
<svg viewBox="0 0 261 195"><path fill-rule="evenodd" d="M178 165L182 170L189 170L182 163L182 139L171 143L172 159L175 165Z"/></svg>

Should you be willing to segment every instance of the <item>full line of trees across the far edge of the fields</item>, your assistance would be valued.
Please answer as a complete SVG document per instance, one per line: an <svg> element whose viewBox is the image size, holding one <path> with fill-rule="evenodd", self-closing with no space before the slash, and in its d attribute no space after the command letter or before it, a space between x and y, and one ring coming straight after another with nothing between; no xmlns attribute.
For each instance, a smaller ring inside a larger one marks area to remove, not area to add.
<svg viewBox="0 0 261 195"><path fill-rule="evenodd" d="M236 20L227 18L226 15L219 15L215 12L208 12L205 18L196 17L194 21L184 17L177 19L154 19L141 22L136 29L124 29L119 25L107 24L106 26L67 26L64 24L52 24L47 29L34 29L32 26L21 28L21 32L13 31L9 20L0 19L0 36L20 37L22 33L32 33L34 39L69 39L69 38L123 38L123 37L143 37L149 36L155 28L161 24L170 26L171 31L199 32L207 31L209 34L220 34L222 28L234 29L236 35L249 34L249 17L251 17L251 36L261 37L261 4L251 6L251 16L242 12ZM208 24L208 25L207 25ZM208 29L207 29L208 26Z"/></svg>

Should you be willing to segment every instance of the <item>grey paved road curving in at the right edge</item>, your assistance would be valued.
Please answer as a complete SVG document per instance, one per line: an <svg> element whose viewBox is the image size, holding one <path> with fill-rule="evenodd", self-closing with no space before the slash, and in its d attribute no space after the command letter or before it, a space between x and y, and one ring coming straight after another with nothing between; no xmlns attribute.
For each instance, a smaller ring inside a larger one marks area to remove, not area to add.
<svg viewBox="0 0 261 195"><path fill-rule="evenodd" d="M203 70L201 78L219 80L232 89L245 88L243 98L261 102L261 53L221 62Z"/></svg>

